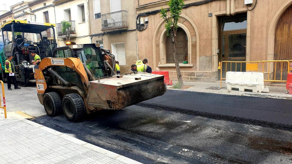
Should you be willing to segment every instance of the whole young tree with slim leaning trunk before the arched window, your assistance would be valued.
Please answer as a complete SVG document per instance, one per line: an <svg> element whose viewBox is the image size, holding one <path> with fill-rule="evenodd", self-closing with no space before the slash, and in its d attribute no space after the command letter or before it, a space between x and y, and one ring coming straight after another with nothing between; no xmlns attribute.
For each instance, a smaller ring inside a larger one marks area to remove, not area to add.
<svg viewBox="0 0 292 164"><path fill-rule="evenodd" d="M171 45L172 45L172 52L174 57L174 63L176 68L176 73L178 75L178 84L180 88L184 87L182 74L180 73L180 66L178 64L178 57L176 54L176 32L178 29L178 19L182 12L183 6L185 4L183 3L183 0L169 0L168 6L169 6L169 12L170 17L168 18L168 10L161 8L160 14L161 18L164 19L165 23L165 29L167 32L167 36L171 37Z"/></svg>

